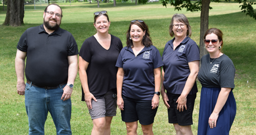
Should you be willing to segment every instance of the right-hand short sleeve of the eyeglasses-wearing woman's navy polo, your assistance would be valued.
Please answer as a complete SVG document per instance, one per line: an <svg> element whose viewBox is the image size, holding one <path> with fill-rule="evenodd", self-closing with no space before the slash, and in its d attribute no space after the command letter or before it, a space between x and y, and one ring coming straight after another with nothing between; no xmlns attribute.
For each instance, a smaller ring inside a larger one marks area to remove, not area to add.
<svg viewBox="0 0 256 135"><path fill-rule="evenodd" d="M200 60L200 51L199 47L197 46L196 42L193 40L188 41L189 49L186 52L187 55L187 61L195 61L195 60Z"/></svg>

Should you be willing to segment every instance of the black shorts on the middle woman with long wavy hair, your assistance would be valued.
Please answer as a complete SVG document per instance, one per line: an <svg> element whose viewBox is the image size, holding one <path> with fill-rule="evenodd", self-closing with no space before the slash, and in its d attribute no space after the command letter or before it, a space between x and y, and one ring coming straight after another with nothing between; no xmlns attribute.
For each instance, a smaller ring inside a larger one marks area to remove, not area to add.
<svg viewBox="0 0 256 135"><path fill-rule="evenodd" d="M139 120L142 125L154 123L157 108L152 109L151 100L139 100L128 98L122 95L124 100L124 110L121 110L122 120L124 122L136 122Z"/></svg>

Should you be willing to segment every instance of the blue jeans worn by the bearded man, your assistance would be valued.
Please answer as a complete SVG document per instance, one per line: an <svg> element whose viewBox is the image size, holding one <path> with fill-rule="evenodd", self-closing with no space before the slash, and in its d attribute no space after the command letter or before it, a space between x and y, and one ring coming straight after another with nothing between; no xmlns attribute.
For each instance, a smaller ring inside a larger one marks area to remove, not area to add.
<svg viewBox="0 0 256 135"><path fill-rule="evenodd" d="M29 134L44 134L48 111L53 118L56 134L72 134L70 129L71 100L61 100L63 88L44 89L26 83L25 105L29 117Z"/></svg>

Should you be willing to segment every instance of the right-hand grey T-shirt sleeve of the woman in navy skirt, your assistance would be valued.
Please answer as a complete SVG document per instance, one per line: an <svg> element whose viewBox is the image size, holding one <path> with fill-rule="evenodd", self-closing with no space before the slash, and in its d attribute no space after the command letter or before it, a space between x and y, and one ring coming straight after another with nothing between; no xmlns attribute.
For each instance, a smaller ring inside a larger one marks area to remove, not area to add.
<svg viewBox="0 0 256 135"><path fill-rule="evenodd" d="M220 87L235 88L235 66L230 59L221 62L220 66Z"/></svg>

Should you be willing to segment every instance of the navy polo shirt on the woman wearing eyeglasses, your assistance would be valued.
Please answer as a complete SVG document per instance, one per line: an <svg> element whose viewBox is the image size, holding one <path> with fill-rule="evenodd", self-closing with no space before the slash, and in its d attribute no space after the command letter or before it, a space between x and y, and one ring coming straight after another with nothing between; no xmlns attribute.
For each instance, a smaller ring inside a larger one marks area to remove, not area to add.
<svg viewBox="0 0 256 135"><path fill-rule="evenodd" d="M163 52L164 69L164 88L168 93L181 94L190 74L188 62L200 60L200 51L196 42L186 37L175 50L173 41L175 37L165 44ZM190 91L191 94L197 93L196 82Z"/></svg>

